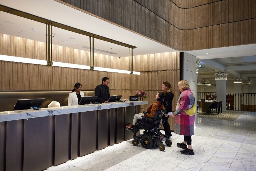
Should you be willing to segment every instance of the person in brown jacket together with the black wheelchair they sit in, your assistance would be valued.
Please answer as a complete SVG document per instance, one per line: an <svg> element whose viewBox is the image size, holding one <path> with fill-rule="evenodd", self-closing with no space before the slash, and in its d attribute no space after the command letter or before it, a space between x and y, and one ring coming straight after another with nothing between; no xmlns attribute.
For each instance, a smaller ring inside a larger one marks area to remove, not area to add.
<svg viewBox="0 0 256 171"><path fill-rule="evenodd" d="M144 148L152 148L153 146L159 147L161 151L165 150L165 145L162 142L164 135L160 132L162 126L162 117L165 114L163 100L163 92L158 92L156 95L156 102L154 102L147 112L139 113L134 115L134 119L131 126L126 126L128 131L134 132L134 140L132 144L137 146L140 142ZM143 134L136 136L136 133L144 129ZM166 139L166 145L171 146L172 142L170 139Z"/></svg>

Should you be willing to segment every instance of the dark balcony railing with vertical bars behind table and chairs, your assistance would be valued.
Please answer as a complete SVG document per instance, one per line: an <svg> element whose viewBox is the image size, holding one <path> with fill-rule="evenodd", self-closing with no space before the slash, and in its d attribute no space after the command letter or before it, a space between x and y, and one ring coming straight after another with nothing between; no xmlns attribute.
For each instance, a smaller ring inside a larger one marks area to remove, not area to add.
<svg viewBox="0 0 256 171"><path fill-rule="evenodd" d="M227 110L242 110L256 112L255 94L256 93L227 93ZM216 95L216 92L198 92L197 100L207 100L211 97L211 95Z"/></svg>

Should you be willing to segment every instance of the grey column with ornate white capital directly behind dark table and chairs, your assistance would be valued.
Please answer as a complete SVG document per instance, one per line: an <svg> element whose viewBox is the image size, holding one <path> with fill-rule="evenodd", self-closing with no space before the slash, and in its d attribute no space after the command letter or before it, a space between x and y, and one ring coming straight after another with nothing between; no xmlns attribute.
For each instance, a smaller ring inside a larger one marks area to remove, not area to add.
<svg viewBox="0 0 256 171"><path fill-rule="evenodd" d="M222 101L222 110L226 110L226 84L227 84L227 72L215 72L215 81L216 81L216 100Z"/></svg>

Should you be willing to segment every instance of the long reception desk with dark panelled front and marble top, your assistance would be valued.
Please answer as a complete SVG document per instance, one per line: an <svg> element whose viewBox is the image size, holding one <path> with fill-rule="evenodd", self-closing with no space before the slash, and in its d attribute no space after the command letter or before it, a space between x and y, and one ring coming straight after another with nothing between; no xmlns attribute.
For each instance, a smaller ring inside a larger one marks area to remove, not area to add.
<svg viewBox="0 0 256 171"><path fill-rule="evenodd" d="M0 171L39 171L131 139L148 101L0 112Z"/></svg>

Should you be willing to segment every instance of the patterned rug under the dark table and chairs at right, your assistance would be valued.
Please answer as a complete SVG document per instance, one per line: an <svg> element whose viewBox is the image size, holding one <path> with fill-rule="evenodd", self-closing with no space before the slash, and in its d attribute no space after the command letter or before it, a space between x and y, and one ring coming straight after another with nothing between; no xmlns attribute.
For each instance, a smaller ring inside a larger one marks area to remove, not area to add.
<svg viewBox="0 0 256 171"><path fill-rule="evenodd" d="M234 111L234 110L228 110L228 111L222 111L222 113L216 115L216 113L204 113L200 112L198 114L199 118L211 118L211 119L221 119L226 121L234 121L236 120L241 114L243 114L243 111Z"/></svg>

